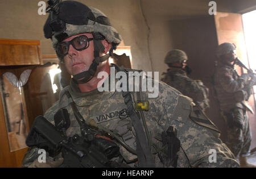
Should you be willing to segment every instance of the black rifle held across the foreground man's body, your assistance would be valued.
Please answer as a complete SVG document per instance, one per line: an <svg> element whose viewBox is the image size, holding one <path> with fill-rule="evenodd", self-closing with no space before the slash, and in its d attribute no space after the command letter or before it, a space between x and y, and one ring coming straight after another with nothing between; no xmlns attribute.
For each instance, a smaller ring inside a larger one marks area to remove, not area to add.
<svg viewBox="0 0 256 179"><path fill-rule="evenodd" d="M58 126L63 127L63 124L67 123L61 120ZM43 116L38 116L26 144L28 147L46 149L52 157L62 152L64 161L60 167L120 167L118 163L110 161L119 152L118 145L112 140L99 135L94 135L91 140L77 134L67 137L61 132L61 127L55 127Z"/></svg>

